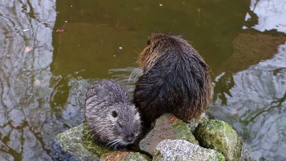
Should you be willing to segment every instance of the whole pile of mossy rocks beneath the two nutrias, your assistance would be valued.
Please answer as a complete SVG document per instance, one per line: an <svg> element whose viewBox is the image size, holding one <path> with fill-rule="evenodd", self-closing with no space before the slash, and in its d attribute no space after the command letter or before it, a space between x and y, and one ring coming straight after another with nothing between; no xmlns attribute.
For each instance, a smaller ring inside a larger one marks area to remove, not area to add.
<svg viewBox="0 0 286 161"><path fill-rule="evenodd" d="M77 161L240 161L243 142L227 123L202 115L186 124L172 114L153 123L132 151L96 143L85 124L56 136L56 147ZM57 154L54 154L57 155Z"/></svg>

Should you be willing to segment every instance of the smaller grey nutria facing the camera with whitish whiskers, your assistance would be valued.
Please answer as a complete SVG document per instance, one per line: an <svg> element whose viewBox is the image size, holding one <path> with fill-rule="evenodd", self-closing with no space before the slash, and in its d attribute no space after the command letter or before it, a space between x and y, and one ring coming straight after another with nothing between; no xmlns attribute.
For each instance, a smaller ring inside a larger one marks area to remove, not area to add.
<svg viewBox="0 0 286 161"><path fill-rule="evenodd" d="M83 114L95 138L113 148L133 144L141 131L140 114L116 81L92 84L86 93Z"/></svg>

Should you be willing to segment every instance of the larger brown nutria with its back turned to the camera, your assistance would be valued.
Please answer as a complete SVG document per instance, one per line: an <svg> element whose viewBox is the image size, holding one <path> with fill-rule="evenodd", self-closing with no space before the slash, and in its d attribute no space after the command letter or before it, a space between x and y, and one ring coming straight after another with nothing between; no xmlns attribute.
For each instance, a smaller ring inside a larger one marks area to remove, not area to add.
<svg viewBox="0 0 286 161"><path fill-rule="evenodd" d="M163 113L185 122L199 118L211 101L209 67L180 36L149 36L139 64L143 75L135 83L134 102L147 125Z"/></svg>

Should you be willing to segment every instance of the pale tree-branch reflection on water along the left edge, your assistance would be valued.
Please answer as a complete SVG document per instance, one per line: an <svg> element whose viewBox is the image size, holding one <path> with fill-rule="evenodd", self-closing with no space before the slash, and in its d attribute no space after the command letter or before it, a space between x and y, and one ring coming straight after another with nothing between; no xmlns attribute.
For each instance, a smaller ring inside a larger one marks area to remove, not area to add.
<svg viewBox="0 0 286 161"><path fill-rule="evenodd" d="M0 160L50 160L55 0L0 1ZM31 50L31 51L30 51Z"/></svg>

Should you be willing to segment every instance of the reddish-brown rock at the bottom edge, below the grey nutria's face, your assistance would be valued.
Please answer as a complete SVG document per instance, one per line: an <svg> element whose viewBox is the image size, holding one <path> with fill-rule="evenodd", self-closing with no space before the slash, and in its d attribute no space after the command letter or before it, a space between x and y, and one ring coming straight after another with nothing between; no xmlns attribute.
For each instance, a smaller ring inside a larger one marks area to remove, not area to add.
<svg viewBox="0 0 286 161"><path fill-rule="evenodd" d="M139 152L113 151L104 153L100 161L151 161L151 159Z"/></svg>

